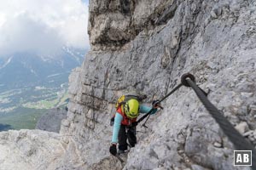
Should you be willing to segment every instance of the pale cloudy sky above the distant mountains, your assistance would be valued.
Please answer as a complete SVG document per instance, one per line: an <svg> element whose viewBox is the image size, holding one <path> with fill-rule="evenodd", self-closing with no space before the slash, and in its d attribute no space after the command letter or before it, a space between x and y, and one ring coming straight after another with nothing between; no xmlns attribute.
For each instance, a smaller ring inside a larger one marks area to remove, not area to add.
<svg viewBox="0 0 256 170"><path fill-rule="evenodd" d="M88 0L0 0L0 55L88 48Z"/></svg>

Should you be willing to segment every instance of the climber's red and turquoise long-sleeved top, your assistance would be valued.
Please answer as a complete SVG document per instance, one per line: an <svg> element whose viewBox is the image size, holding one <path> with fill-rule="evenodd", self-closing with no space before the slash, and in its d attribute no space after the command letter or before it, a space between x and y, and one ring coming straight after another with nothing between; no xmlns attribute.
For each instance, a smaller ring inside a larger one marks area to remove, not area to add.
<svg viewBox="0 0 256 170"><path fill-rule="evenodd" d="M119 129L121 124L125 126L131 125L131 122L136 122L137 118L129 119L127 116L125 116L125 112L122 110L123 105L120 105L117 109L115 116L114 116L114 122L113 122L113 136L112 136L112 143L118 143L118 135L119 135ZM148 107L146 105L140 105L139 106L139 112L140 113L148 113L148 111L151 110L151 107ZM154 109L152 111L151 115L153 115L157 109Z"/></svg>

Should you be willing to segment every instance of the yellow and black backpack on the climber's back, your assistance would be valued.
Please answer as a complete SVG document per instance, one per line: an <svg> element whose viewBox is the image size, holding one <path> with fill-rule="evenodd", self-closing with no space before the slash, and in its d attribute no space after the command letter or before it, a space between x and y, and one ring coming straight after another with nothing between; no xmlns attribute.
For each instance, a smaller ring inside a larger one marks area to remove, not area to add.
<svg viewBox="0 0 256 170"><path fill-rule="evenodd" d="M147 95L134 95L134 94L124 94L124 95L121 95L119 97L119 99L117 99L117 102L115 104L115 109L117 110L119 108L119 106L125 105L125 103L129 99L137 99L139 102L142 102L143 99L147 99ZM115 116L115 113L112 116L112 118L110 119L110 126L113 126L114 116Z"/></svg>

